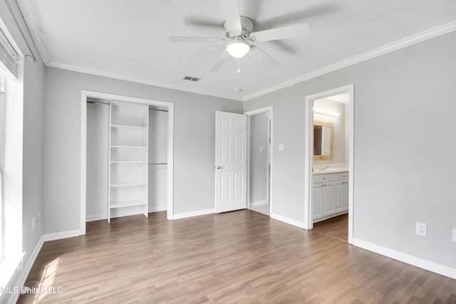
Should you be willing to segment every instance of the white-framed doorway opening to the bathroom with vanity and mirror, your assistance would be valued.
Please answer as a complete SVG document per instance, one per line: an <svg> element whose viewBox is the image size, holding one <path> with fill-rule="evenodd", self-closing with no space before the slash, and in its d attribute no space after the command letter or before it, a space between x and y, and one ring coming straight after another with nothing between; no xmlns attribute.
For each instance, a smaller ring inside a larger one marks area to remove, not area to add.
<svg viewBox="0 0 456 304"><path fill-rule="evenodd" d="M348 243L353 243L353 93L353 85L346 85L306 96L305 105L305 228L348 211ZM326 132L317 132L315 124Z"/></svg>

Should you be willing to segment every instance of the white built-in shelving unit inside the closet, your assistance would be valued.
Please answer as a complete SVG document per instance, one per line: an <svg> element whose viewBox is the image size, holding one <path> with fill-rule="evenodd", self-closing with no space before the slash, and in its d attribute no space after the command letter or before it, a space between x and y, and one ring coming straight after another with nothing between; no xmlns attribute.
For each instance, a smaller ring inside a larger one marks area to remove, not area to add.
<svg viewBox="0 0 456 304"><path fill-rule="evenodd" d="M148 124L148 105L110 102L108 223L113 209L147 217Z"/></svg>

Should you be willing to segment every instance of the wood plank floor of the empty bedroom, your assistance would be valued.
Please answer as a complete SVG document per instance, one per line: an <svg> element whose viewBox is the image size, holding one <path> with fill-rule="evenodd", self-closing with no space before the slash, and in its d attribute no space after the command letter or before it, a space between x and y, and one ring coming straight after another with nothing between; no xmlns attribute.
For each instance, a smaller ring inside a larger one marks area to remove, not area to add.
<svg viewBox="0 0 456 304"><path fill-rule="evenodd" d="M62 293L19 303L456 303L456 280L249 210L90 222L44 243L31 281Z"/></svg>

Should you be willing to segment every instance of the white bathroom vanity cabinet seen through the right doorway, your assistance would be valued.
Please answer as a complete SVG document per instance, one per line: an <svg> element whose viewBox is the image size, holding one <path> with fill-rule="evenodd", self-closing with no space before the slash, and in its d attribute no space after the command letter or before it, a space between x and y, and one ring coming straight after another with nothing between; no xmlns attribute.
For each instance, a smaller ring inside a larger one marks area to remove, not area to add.
<svg viewBox="0 0 456 304"><path fill-rule="evenodd" d="M314 174L314 223L348 212L348 172Z"/></svg>

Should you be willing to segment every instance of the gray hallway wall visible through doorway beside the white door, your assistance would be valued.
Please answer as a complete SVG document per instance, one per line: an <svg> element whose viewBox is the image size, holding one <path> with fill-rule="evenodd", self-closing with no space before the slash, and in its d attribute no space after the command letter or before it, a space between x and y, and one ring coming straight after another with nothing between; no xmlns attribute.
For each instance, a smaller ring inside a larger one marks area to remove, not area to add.
<svg viewBox="0 0 456 304"><path fill-rule="evenodd" d="M250 204L266 201L268 169L267 124L270 112L250 117ZM263 151L261 151L263 147Z"/></svg>

